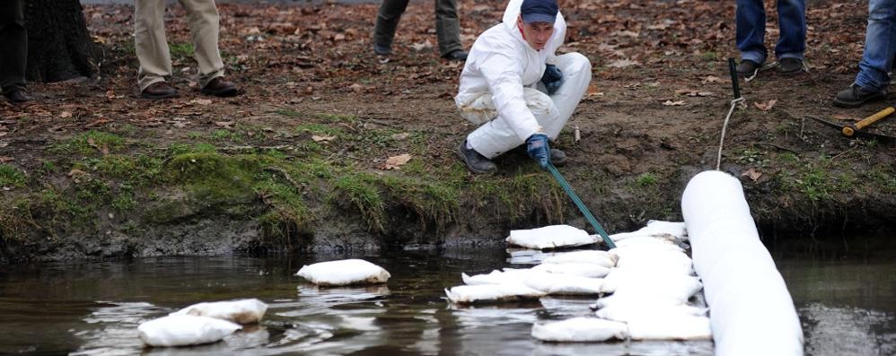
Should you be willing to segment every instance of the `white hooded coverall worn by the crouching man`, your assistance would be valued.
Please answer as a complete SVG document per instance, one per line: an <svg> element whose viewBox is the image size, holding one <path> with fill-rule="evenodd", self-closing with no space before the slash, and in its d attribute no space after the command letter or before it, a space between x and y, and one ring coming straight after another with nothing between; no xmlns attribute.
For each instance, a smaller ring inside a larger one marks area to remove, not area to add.
<svg viewBox="0 0 896 356"><path fill-rule="evenodd" d="M558 13L554 34L538 51L526 43L517 27L521 4L523 0L511 0L503 22L473 43L454 97L461 117L482 124L467 135L467 142L488 159L525 143L533 134L557 139L591 82L588 58L578 53L554 54L567 32L563 15ZM563 73L563 85L551 96L535 88L545 64L557 65Z"/></svg>

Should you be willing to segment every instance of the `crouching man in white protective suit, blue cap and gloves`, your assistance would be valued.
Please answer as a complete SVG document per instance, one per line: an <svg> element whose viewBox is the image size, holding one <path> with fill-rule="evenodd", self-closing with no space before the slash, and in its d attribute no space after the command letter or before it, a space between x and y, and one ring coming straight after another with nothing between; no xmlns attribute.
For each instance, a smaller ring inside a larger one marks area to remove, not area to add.
<svg viewBox="0 0 896 356"><path fill-rule="evenodd" d="M458 148L473 173L496 171L491 160L523 143L542 169L566 163L549 141L591 82L588 58L555 55L566 30L556 0L511 0L504 21L473 43L454 98L461 117L481 125Z"/></svg>

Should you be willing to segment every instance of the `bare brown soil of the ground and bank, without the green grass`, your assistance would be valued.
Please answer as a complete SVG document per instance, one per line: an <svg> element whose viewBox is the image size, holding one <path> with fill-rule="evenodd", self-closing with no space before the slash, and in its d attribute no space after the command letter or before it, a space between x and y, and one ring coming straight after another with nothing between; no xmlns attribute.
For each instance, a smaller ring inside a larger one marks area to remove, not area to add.
<svg viewBox="0 0 896 356"><path fill-rule="evenodd" d="M499 22L504 11L504 2L498 1L463 1L459 6L467 48L479 32ZM767 42L773 48L777 16L773 4L767 6ZM209 142L224 154L276 149L287 159L301 161L303 147L316 143L322 147L322 160L352 161L346 167L375 176L440 181L452 173L439 169L459 171L454 150L473 127L454 107L462 64L438 58L431 4L408 6L395 54L388 61L371 50L376 4L220 4L219 10L228 78L245 94L219 99L198 93L185 15L180 5L173 5L168 36L176 75L171 83L181 95L154 101L139 99L136 90L133 8L85 7L84 16L103 52L100 74L83 81L31 84L39 100L28 106L0 102L0 161L27 177L23 185L5 187L4 204L25 204L22 199L37 199L35 193L46 187L76 195L66 187L81 184L78 177L88 169L80 156L52 147L89 130L125 137L129 148L121 154L162 155L165 162L172 156L160 152L172 144ZM648 219L681 219L679 198L688 179L716 168L722 123L732 99L726 59L736 56L733 2L561 1L561 10L569 22L567 45L561 51L588 56L594 68L593 86L560 138L560 148L570 157L562 171L606 230L637 228ZM741 178L767 241L814 241L893 229L892 144L848 139L805 118L859 119L887 107L883 102L861 109L830 105L833 95L855 77L866 16L864 3L810 2L808 73L783 76L770 69L741 84L745 105L734 111L727 126L721 169ZM334 123L334 116L351 119ZM342 141L294 129L309 124L351 133L405 132L420 139L412 150L400 138ZM581 136L577 142L576 127ZM891 134L896 118L867 131L896 135ZM94 150L84 153L85 158L110 154L101 143L87 144ZM417 161L417 169L384 169L387 158L402 153L411 154L408 165ZM525 175L543 179L539 187L551 184L549 175L531 169L522 154L508 153L497 164L494 177L463 173L459 179L471 185L501 184ZM114 178L107 183L117 187ZM442 220L415 213L407 204L393 203L400 197L385 195L388 218L380 229L373 229L369 219L365 222L364 212L351 203L337 199L335 209L321 208L330 204L323 192L306 199L315 217L309 227L296 228L298 235L287 233L285 244L265 238L256 219L265 195L253 198L251 192L240 199L248 199L245 205L253 208L238 213L194 209L155 224L128 220L153 206L144 205L152 199L137 196L136 206L119 209L118 215L109 207L97 209L87 229L69 226L71 221L60 217L67 215L32 207L28 216L48 220L0 221L6 224L0 230L0 259L216 254L279 250L284 245L315 249L500 243L513 228L555 221L584 227L566 196L550 187L535 192L548 198L528 200L540 202L540 209L514 206L529 212L515 218L462 187L460 203ZM180 194L163 190L156 188L154 194Z"/></svg>

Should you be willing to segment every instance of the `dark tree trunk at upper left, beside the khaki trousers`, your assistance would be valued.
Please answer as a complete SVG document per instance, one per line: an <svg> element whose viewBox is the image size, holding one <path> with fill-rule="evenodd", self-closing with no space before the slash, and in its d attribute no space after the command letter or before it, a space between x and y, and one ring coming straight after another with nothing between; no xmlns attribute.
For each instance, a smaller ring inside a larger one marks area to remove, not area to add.
<svg viewBox="0 0 896 356"><path fill-rule="evenodd" d="M78 0L27 0L25 28L30 81L59 82L96 73L96 50Z"/></svg>

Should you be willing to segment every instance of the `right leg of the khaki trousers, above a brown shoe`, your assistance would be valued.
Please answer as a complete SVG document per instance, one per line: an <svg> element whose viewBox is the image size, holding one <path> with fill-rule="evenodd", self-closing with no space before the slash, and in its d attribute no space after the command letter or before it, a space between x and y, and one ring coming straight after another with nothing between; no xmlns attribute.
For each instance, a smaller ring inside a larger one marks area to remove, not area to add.
<svg viewBox="0 0 896 356"><path fill-rule="evenodd" d="M218 50L220 17L214 0L180 0L187 10L193 53L199 66L199 87L224 76L224 62Z"/></svg>

